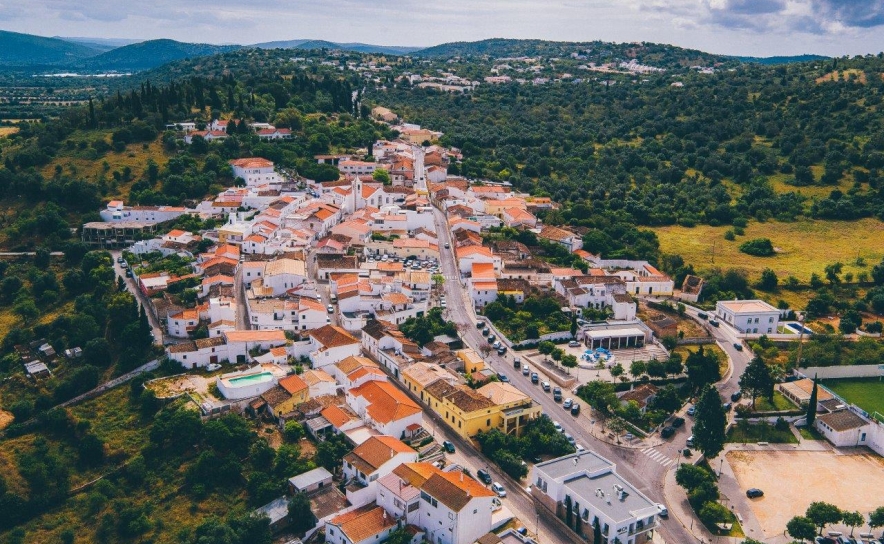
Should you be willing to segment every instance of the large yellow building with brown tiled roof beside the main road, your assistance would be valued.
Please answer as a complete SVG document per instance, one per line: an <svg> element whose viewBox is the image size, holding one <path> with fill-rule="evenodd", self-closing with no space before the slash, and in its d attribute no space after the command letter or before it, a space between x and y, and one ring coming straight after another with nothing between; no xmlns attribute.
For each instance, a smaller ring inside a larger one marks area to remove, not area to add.
<svg viewBox="0 0 884 544"><path fill-rule="evenodd" d="M541 413L540 406L530 397L504 383L491 383L474 391L465 385L437 380L424 393L430 408L464 438L495 428L518 434Z"/></svg>

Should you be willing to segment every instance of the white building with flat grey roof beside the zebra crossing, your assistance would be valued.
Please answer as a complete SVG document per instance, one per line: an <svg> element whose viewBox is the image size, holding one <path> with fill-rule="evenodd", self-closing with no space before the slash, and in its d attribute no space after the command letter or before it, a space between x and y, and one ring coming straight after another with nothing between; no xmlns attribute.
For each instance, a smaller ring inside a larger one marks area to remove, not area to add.
<svg viewBox="0 0 884 544"><path fill-rule="evenodd" d="M529 478L531 494L551 513L565 518L570 507L583 534L598 519L606 542L648 542L657 527L657 504L620 477L614 464L591 451L538 463Z"/></svg>

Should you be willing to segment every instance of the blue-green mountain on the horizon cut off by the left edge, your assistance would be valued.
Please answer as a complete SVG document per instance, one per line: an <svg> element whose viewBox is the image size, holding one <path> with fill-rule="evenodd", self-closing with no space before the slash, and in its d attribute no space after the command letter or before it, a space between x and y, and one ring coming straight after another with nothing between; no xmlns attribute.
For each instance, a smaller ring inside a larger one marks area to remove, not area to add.
<svg viewBox="0 0 884 544"><path fill-rule="evenodd" d="M0 30L0 66L57 66L99 53L100 49L58 38Z"/></svg>

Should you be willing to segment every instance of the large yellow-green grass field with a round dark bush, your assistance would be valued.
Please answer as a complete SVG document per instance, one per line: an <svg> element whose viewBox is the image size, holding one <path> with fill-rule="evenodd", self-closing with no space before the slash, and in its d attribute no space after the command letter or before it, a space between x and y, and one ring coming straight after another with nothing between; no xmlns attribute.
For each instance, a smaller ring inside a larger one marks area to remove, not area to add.
<svg viewBox="0 0 884 544"><path fill-rule="evenodd" d="M822 276L825 266L834 262L843 263L843 272L852 272L855 276L859 272L869 273L871 266L884 256L884 223L874 219L752 222L746 228L745 236L738 236L733 242L724 239L728 229L703 225L660 227L654 231L660 239L661 251L681 255L698 272L713 267L739 268L745 270L752 280L759 278L765 268L771 268L780 281L791 275L807 282L812 273ZM777 255L753 257L740 252L740 244L753 238L770 238L778 250ZM867 266L856 266L857 257L865 259Z"/></svg>

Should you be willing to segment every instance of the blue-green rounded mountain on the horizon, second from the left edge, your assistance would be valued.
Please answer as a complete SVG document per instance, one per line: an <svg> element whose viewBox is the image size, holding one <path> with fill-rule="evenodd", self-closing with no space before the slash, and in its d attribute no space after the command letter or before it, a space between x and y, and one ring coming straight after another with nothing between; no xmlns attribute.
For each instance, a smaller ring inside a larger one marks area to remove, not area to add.
<svg viewBox="0 0 884 544"><path fill-rule="evenodd" d="M88 59L83 65L90 70L139 71L176 60L207 57L237 49L242 49L242 46L149 40L102 53Z"/></svg>

